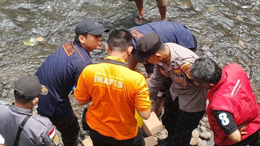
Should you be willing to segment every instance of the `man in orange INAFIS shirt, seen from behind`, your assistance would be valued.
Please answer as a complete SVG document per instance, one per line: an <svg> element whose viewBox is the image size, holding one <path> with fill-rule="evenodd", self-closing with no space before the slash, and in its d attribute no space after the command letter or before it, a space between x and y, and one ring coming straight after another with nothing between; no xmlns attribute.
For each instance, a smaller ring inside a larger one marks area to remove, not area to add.
<svg viewBox="0 0 260 146"><path fill-rule="evenodd" d="M143 119L151 113L148 87L143 75L127 68L132 35L114 29L108 36L103 63L88 65L81 73L74 95L78 105L92 101L86 113L94 146L144 146L135 108Z"/></svg>

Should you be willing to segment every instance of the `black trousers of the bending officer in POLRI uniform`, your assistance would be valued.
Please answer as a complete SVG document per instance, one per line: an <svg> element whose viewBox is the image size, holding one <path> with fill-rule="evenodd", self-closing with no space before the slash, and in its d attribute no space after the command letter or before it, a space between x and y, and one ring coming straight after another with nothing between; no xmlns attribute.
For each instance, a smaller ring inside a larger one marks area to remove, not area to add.
<svg viewBox="0 0 260 146"><path fill-rule="evenodd" d="M185 112L179 109L178 97L172 101L170 93L166 95L164 102L164 115L162 122L168 131L168 138L164 140L164 146L189 146L191 133L198 127L205 111Z"/></svg>

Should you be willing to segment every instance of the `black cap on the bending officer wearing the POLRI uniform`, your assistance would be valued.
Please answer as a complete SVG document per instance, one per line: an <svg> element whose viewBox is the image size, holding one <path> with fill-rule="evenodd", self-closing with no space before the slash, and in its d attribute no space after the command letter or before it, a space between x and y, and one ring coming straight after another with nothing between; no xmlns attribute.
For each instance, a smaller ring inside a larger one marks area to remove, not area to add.
<svg viewBox="0 0 260 146"><path fill-rule="evenodd" d="M145 34L136 42L137 52L134 54L134 59L140 63L145 62L161 47L164 47L164 43L155 32Z"/></svg>

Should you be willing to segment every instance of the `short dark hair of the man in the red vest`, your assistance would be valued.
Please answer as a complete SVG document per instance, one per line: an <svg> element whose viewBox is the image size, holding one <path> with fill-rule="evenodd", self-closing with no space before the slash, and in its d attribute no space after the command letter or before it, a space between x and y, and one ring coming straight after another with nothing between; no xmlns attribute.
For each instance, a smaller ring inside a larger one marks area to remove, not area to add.
<svg viewBox="0 0 260 146"><path fill-rule="evenodd" d="M216 85L221 79L222 70L212 59L202 57L193 63L190 74L201 85Z"/></svg>

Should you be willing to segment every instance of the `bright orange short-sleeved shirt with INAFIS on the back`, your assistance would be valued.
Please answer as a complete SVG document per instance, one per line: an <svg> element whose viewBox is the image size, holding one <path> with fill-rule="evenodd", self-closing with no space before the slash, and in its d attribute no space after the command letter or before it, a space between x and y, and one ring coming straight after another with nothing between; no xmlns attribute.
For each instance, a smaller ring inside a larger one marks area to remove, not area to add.
<svg viewBox="0 0 260 146"><path fill-rule="evenodd" d="M108 56L105 59L125 63L118 57ZM137 135L135 108L147 111L151 107L143 75L112 63L88 65L79 77L74 95L79 101L92 98L86 115L89 127L117 140Z"/></svg>

